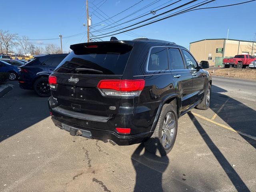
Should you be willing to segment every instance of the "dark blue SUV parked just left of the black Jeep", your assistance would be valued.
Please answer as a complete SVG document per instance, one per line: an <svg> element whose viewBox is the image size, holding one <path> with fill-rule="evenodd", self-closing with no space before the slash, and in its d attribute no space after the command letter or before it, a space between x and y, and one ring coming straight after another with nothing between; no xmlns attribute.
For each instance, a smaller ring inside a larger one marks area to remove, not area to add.
<svg viewBox="0 0 256 192"><path fill-rule="evenodd" d="M35 56L20 67L19 86L34 90L41 97L50 96L48 76L68 54L48 54Z"/></svg>

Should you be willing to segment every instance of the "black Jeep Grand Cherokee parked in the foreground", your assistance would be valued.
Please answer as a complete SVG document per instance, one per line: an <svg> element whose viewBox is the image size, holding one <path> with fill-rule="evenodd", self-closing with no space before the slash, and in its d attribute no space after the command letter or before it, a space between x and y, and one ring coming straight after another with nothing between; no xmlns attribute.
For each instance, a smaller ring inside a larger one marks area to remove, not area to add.
<svg viewBox="0 0 256 192"><path fill-rule="evenodd" d="M178 118L210 105L209 63L172 42L146 38L71 45L49 77L56 126L112 144L172 149ZM162 150L164 149L164 150ZM162 152L161 152L162 151ZM158 151L157 151L158 152Z"/></svg>

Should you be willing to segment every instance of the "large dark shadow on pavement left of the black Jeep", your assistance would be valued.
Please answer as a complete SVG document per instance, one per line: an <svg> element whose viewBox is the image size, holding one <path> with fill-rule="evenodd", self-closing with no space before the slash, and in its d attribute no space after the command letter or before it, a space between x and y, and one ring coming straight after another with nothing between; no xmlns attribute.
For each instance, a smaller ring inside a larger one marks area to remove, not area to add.
<svg viewBox="0 0 256 192"><path fill-rule="evenodd" d="M0 142L49 116L48 98L20 89L18 82L10 83L13 90L0 98Z"/></svg>

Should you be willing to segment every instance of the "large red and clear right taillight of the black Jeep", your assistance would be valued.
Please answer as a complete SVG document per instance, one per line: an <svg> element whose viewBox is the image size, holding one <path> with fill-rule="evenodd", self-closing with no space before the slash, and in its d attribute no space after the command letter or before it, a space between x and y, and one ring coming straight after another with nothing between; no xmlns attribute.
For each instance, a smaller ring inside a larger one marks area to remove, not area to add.
<svg viewBox="0 0 256 192"><path fill-rule="evenodd" d="M145 80L101 80L98 89L104 96L135 97L145 86Z"/></svg>

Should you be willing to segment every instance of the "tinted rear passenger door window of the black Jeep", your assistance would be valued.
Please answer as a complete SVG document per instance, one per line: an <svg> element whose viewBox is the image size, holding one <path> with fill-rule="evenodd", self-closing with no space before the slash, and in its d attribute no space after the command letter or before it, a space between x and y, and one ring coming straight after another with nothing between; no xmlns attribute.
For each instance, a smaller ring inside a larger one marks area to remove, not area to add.
<svg viewBox="0 0 256 192"><path fill-rule="evenodd" d="M185 69L184 62L179 49L168 48L170 56L170 64L173 70L176 69Z"/></svg>

